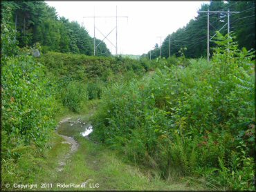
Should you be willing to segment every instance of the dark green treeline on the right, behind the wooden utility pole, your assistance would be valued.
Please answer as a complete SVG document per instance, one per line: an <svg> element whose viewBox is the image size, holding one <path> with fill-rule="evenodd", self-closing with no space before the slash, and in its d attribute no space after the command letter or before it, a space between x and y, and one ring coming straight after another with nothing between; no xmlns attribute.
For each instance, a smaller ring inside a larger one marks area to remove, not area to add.
<svg viewBox="0 0 256 192"><path fill-rule="evenodd" d="M230 32L234 32L237 37L239 48L245 47L250 50L255 48L255 1L210 1L210 4L203 4L199 10L224 10L238 11L238 14L230 14ZM217 30L220 30L228 21L227 14L210 14L210 38ZM220 30L225 35L228 32L227 25ZM185 57L198 58L205 57L207 52L207 13L199 13L195 19L183 28L165 37L162 44L162 57L170 55L180 56L181 48L187 48ZM210 48L214 42L210 41ZM213 50L210 49L212 55ZM151 58L160 56L160 47L155 46L151 50ZM150 57L150 51L143 57Z"/></svg>

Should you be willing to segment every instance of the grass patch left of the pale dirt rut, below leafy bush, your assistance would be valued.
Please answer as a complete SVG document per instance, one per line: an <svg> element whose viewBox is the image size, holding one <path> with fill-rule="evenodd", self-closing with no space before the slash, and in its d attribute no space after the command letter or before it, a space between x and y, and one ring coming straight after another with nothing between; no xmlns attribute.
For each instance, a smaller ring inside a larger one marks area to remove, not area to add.
<svg viewBox="0 0 256 192"><path fill-rule="evenodd" d="M15 160L2 159L2 183L1 189L13 191L13 184L37 184L37 190L41 182L50 182L56 177L58 160L66 154L70 148L68 144L62 144L64 139L54 131L51 133L49 148L37 151L37 148L29 146L21 150L22 156ZM5 184L10 184L6 189ZM26 189L27 190L27 189Z"/></svg>

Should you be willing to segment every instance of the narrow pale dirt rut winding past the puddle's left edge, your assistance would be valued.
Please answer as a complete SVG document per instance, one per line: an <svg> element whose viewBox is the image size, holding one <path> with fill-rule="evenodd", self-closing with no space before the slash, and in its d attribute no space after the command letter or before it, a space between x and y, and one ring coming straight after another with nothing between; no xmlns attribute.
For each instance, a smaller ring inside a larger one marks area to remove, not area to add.
<svg viewBox="0 0 256 192"><path fill-rule="evenodd" d="M60 124L63 124L64 122L68 122L68 120L71 119L71 117L66 117L65 119L62 119L62 121L59 122ZM57 128L56 127L56 133L57 133ZM57 133L57 135L60 135L59 133ZM75 151L77 151L79 144L73 139L73 137L68 137L65 135L60 135L62 138L64 138L64 140L66 140L66 142L62 142L62 144L70 144L71 145L71 150L64 156L64 158L62 158L59 162L59 166L57 166L57 172L60 172L63 170L64 166L66 165L66 161L68 160L69 157L71 157L71 155L73 153L75 153Z"/></svg>

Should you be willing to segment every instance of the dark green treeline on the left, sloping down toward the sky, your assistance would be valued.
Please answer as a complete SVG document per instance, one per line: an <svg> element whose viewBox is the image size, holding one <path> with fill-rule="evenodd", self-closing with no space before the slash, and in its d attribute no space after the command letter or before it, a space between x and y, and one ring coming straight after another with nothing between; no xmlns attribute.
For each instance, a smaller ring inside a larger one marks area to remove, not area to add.
<svg viewBox="0 0 256 192"><path fill-rule="evenodd" d="M20 48L39 43L42 51L72 52L93 55L93 38L84 26L76 21L57 17L55 8L44 1L2 1L3 9L11 8L10 21L17 30ZM100 43L100 39L95 39ZM95 51L98 56L110 56L111 52L102 42Z"/></svg>

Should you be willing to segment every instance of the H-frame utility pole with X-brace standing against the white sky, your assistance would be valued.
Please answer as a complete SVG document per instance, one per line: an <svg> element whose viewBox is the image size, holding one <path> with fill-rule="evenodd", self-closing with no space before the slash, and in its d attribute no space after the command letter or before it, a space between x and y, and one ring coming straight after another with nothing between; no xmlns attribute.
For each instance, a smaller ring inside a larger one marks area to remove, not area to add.
<svg viewBox="0 0 256 192"><path fill-rule="evenodd" d="M95 49L100 45L100 44L98 44L97 46L95 45L95 18L116 18L116 46L114 46L114 47L116 47L116 55L118 55L118 18L120 18L120 17L122 17L122 18L127 18L128 19L128 17L127 16L118 16L118 6L116 6L116 16L113 16L113 17L109 17L109 16L105 16L105 17L102 17L102 16L100 16L100 17L98 17L98 16L95 16L95 10L94 10L94 16L93 17L83 17L83 18L93 18L93 26L94 26L94 30L93 30L93 44L94 44L94 55L95 55ZM115 29L115 28L113 28L112 30L111 30L111 32ZM98 29L97 29L98 30ZM99 30L100 31L100 30ZM107 36L109 36L110 35L110 33L111 32L109 32L109 34L107 35ZM102 32L101 32L101 34L102 34ZM103 34L102 34L103 35ZM107 39L107 36L105 36L105 35L103 35L104 36L104 39ZM104 40L104 39L102 39L102 41ZM108 41L109 41L109 39L107 39ZM112 44L112 43L111 43ZM113 44L112 44L113 45Z"/></svg>

